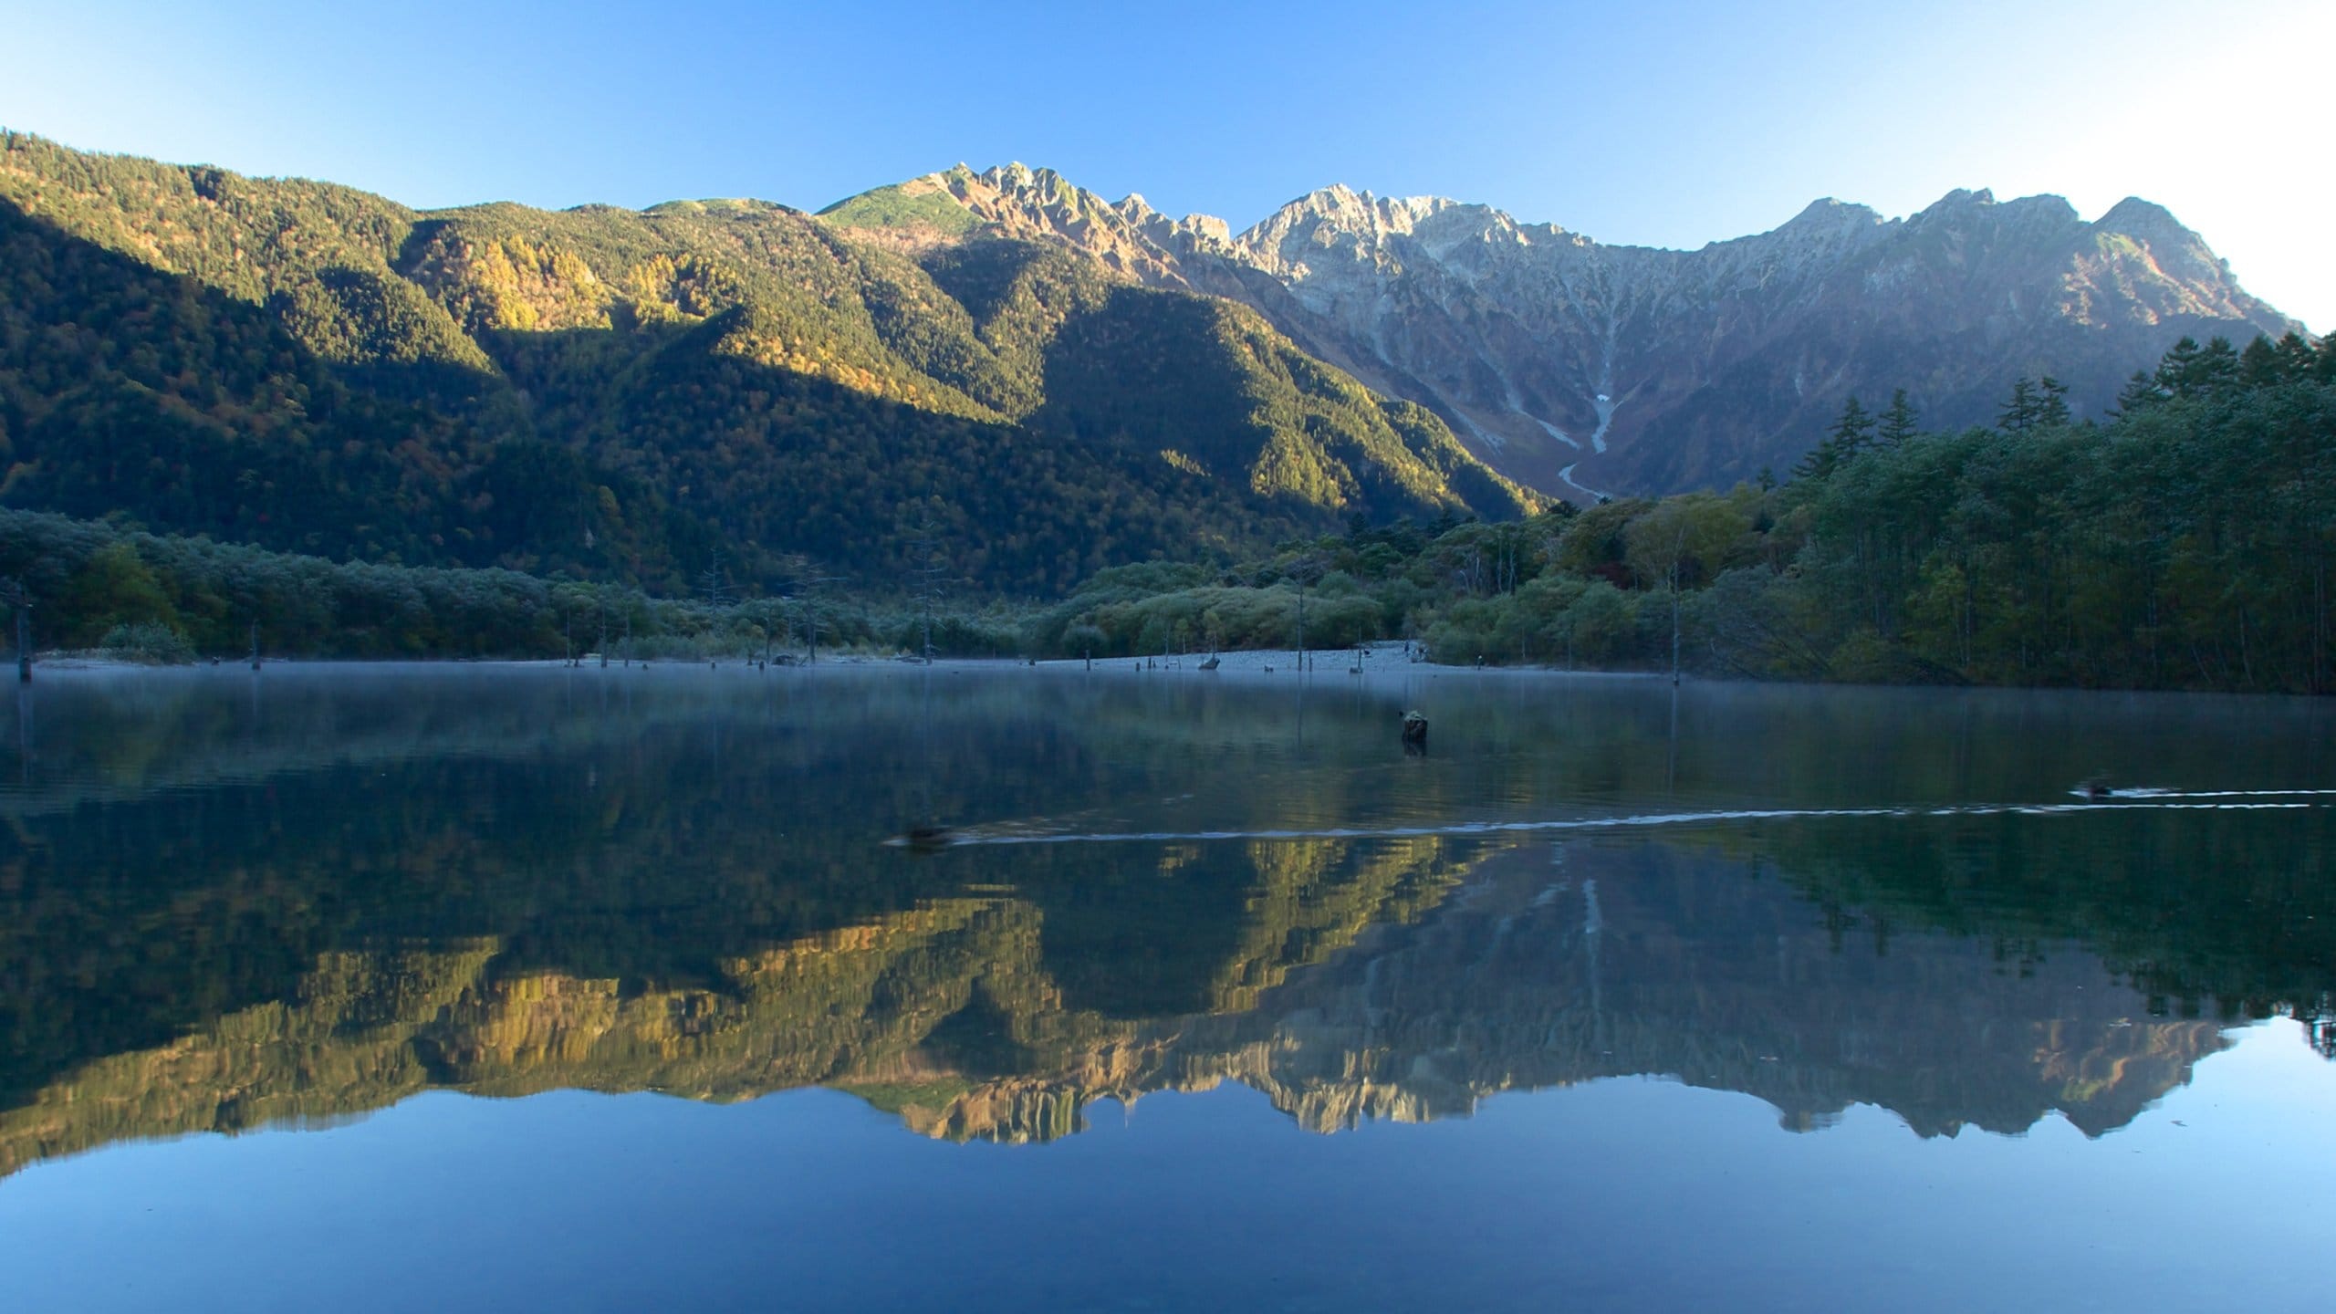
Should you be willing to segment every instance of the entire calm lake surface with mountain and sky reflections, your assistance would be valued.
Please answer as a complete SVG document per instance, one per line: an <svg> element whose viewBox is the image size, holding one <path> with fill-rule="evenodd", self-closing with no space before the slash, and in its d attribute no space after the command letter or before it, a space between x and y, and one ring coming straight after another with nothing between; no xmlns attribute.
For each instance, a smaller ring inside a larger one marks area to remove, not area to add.
<svg viewBox="0 0 2336 1314"><path fill-rule="evenodd" d="M0 711L9 1309L2336 1302L2324 704L271 666Z"/></svg>

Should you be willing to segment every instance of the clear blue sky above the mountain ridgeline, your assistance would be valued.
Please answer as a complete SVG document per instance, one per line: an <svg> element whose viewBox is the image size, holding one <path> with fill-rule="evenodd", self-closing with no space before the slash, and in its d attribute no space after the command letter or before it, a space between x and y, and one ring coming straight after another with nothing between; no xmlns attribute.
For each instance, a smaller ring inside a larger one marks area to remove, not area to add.
<svg viewBox="0 0 2336 1314"><path fill-rule="evenodd" d="M2331 0L0 0L0 124L411 206L1021 159L1236 229L1346 182L1701 245L1815 196L2137 194L2324 330L2331 51Z"/></svg>

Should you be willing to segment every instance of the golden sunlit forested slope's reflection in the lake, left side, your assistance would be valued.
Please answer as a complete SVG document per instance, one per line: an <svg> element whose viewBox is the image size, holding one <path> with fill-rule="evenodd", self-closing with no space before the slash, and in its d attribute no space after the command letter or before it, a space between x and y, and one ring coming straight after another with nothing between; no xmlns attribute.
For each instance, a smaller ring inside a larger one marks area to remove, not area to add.
<svg viewBox="0 0 2336 1314"><path fill-rule="evenodd" d="M1231 858L1247 867L1240 851ZM1329 853L1238 879L1229 917L1250 910L1245 945L1268 961L1236 952L1212 963L1198 982L1208 1008L1254 998L1259 982L1334 954L1374 917L1432 902L1455 867L1418 842L1402 856ZM121 1136L362 1113L425 1087L745 1099L829 1083L920 1127L1023 1139L1023 1122L990 1118L1030 1113L1051 1127L1089 1090L1133 1097L1168 1043L1159 1026L1077 1008L1044 956L1044 907L1004 895L927 900L717 956L691 984L533 966L512 940L336 949L283 998L33 1092L0 1115L0 1164ZM1063 1087L1065 1073L1084 1078L1070 1094L1014 1094L1033 1076Z"/></svg>

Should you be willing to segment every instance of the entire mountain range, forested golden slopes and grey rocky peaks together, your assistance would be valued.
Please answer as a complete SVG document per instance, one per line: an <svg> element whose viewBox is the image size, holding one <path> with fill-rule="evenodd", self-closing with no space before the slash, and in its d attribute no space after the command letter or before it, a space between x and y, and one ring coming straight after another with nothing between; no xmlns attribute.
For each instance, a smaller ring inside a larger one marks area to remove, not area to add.
<svg viewBox="0 0 2336 1314"><path fill-rule="evenodd" d="M986 592L1785 470L1848 395L2100 409L2289 332L2144 201L1820 201L1694 253L1329 187L1233 234L958 166L820 215L413 210L0 133L0 503L652 589Z"/></svg>

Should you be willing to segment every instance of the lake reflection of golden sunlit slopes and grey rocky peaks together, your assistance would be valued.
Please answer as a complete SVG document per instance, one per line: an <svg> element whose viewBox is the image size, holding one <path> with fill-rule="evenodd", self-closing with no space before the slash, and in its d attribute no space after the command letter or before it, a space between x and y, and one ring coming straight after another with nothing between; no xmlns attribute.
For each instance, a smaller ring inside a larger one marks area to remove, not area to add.
<svg viewBox="0 0 2336 1314"><path fill-rule="evenodd" d="M530 968L495 940L332 952L280 1001L35 1092L0 1115L0 1164L427 1087L745 1099L822 1083L925 1134L1037 1141L1098 1097L1219 1080L1327 1132L1654 1073L1757 1094L1789 1127L1862 1101L1923 1134L2018 1132L2053 1108L2100 1134L2222 1047L2217 1024L2151 1019L2074 947L2021 963L1937 933L1841 942L1775 881L1666 846L1586 846L1556 870L1507 851L1465 881L1437 842L1238 858L1247 935L1208 1012L1077 1008L1044 912L1014 895L726 956L701 984Z"/></svg>

